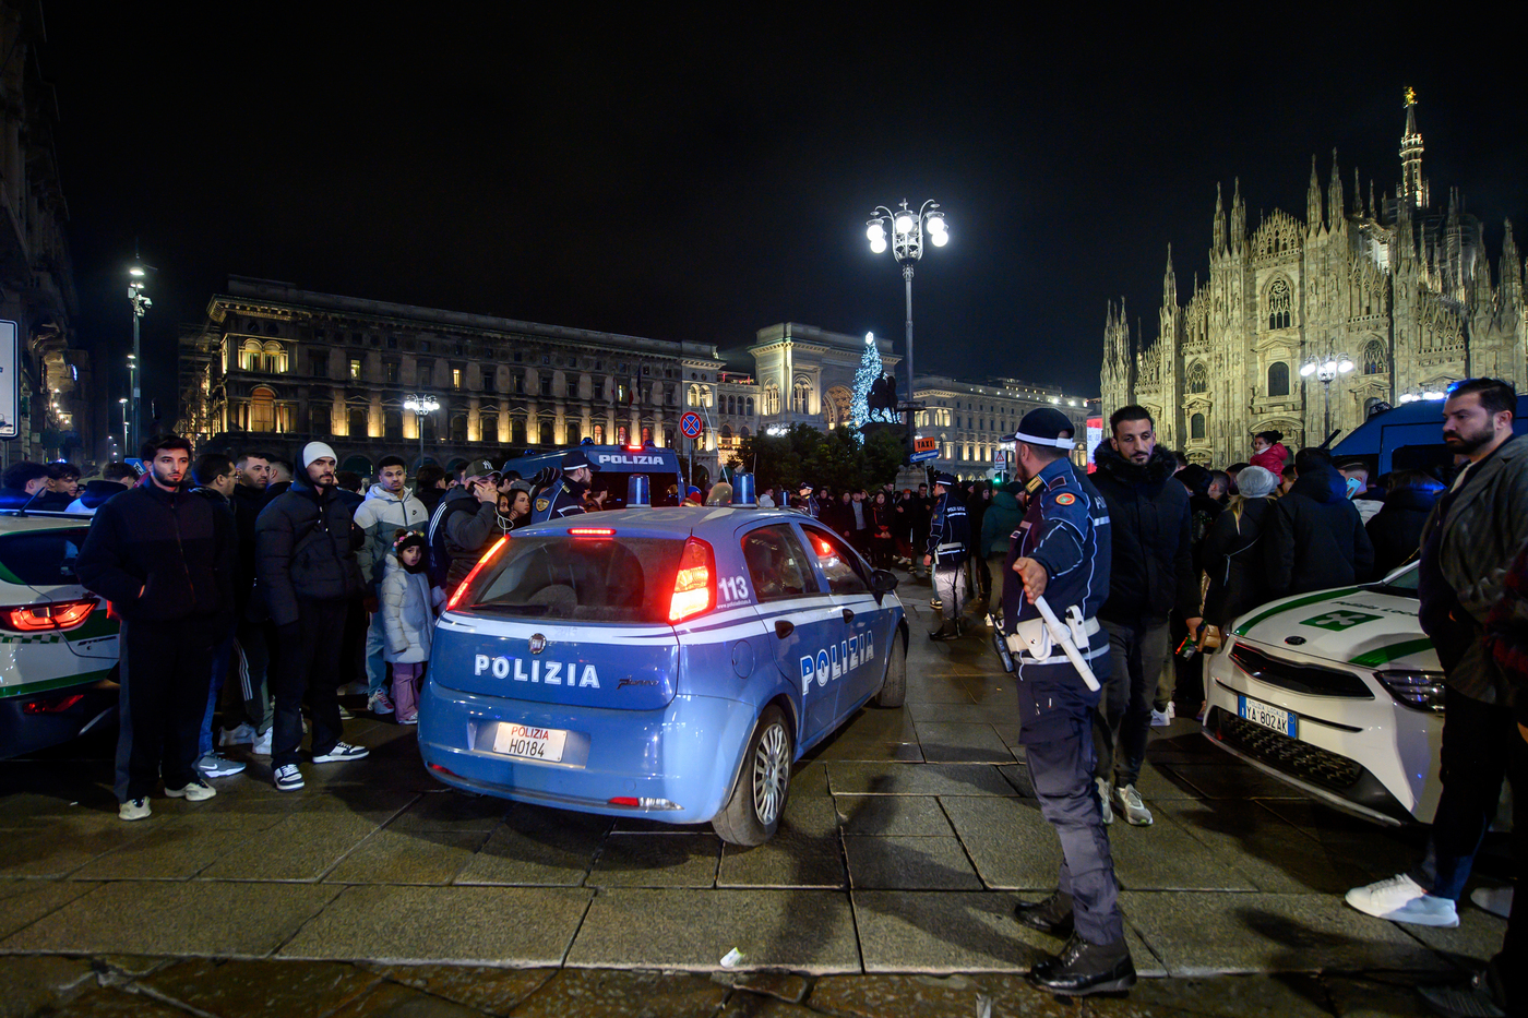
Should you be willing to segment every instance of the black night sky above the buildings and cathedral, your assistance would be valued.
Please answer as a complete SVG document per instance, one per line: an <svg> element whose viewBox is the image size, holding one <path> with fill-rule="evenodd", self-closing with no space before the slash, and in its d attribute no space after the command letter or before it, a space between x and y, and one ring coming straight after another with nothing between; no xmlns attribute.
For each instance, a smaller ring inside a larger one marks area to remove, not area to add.
<svg viewBox="0 0 1528 1018"><path fill-rule="evenodd" d="M902 278L865 220L929 197L950 243L914 280L918 373L1097 394L1106 301L1154 336L1169 243L1187 301L1216 182L1229 203L1241 176L1250 229L1303 219L1332 147L1349 203L1355 164L1365 194L1394 188L1406 86L1435 202L1462 190L1493 274L1502 220L1528 226L1505 26L1449 38L1435 5L1212 29L212 6L44 6L79 341L124 362L138 238L162 413L179 326L229 274L723 350L798 321L902 352Z"/></svg>

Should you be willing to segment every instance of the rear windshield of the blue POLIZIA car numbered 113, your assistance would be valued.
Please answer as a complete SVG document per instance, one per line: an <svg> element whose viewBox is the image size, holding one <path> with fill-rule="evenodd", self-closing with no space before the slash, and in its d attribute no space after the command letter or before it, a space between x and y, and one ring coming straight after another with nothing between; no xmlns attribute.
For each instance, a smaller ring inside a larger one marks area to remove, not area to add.
<svg viewBox="0 0 1528 1018"><path fill-rule="evenodd" d="M575 622L666 622L683 538L510 537L458 611Z"/></svg>

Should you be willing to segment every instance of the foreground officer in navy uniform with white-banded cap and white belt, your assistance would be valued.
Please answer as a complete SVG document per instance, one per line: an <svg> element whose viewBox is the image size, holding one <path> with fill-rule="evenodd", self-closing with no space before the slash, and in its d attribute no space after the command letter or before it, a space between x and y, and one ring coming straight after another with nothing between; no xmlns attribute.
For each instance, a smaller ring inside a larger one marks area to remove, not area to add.
<svg viewBox="0 0 1528 1018"><path fill-rule="evenodd" d="M1044 902L1021 903L1025 926L1071 934L1056 958L1039 961L1031 981L1054 994L1102 994L1135 984L1125 946L1114 859L1093 781L1089 689L1045 625L1034 599L1045 598L1080 660L1102 683L1109 640L1094 618L1109 595L1109 517L1086 474L1073 471L1073 425L1059 410L1031 410L1010 436L1028 511L1013 533L1007 569L1022 582L1002 584L1005 639L1016 660L1019 740L1041 813L1062 845L1059 888Z"/></svg>

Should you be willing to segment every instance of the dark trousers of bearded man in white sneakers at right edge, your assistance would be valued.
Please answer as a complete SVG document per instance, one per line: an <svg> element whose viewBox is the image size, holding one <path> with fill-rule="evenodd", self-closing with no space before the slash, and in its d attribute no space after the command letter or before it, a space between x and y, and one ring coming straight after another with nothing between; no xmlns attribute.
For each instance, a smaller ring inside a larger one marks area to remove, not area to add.
<svg viewBox="0 0 1528 1018"><path fill-rule="evenodd" d="M1459 900L1475 853L1496 816L1502 778L1513 754L1523 752L1510 708L1481 703L1453 689L1444 692L1442 744L1438 764L1442 795L1433 816L1427 854L1412 879L1438 897ZM1517 767L1517 775L1522 769ZM1513 786L1514 801L1528 802L1528 789ZM1519 830L1523 824L1514 824ZM1516 900L1514 900L1516 911Z"/></svg>

